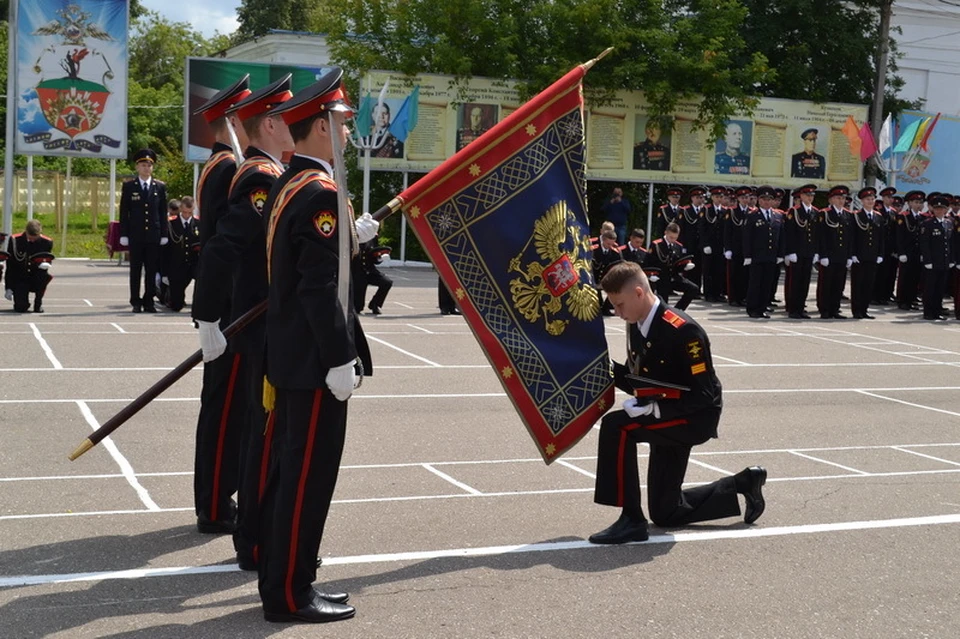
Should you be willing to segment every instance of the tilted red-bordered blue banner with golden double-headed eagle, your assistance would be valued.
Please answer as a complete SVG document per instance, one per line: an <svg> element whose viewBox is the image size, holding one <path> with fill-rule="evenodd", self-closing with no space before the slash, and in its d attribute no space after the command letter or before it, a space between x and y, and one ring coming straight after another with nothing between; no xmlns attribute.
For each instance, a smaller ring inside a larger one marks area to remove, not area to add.
<svg viewBox="0 0 960 639"><path fill-rule="evenodd" d="M613 402L585 213L585 70L399 198L548 464Z"/></svg>

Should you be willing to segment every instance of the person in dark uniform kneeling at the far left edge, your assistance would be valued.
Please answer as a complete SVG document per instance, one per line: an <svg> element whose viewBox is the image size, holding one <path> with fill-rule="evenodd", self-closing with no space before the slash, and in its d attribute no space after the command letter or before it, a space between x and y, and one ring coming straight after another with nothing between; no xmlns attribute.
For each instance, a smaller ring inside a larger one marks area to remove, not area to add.
<svg viewBox="0 0 960 639"><path fill-rule="evenodd" d="M40 233L37 220L27 222L26 230L10 238L7 276L4 282L6 297L13 300L13 310L26 313L30 310L30 293L33 293L33 312L43 312L43 294L53 276L53 240ZM0 248L3 245L0 244Z"/></svg>

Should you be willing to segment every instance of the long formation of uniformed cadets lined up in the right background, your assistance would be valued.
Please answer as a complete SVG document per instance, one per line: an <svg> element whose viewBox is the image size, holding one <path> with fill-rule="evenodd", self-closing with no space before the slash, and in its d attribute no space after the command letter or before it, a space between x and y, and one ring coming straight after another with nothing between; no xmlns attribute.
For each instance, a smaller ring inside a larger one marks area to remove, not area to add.
<svg viewBox="0 0 960 639"><path fill-rule="evenodd" d="M788 207L782 206L786 193L771 186L716 186L705 203L707 193L699 186L686 193L668 188L654 220L658 239L642 254L629 243L614 249L638 261L665 299L689 291L678 308L687 299L726 300L745 307L751 318L769 318L780 302L783 275L783 310L791 319L810 319L807 299L816 270L821 319L873 319L871 305L894 299L902 310L920 310L921 297L924 319L947 319L951 312L960 319L960 196L910 191L900 198L893 187L879 193L867 187L851 208L849 188L837 185L826 194L827 206L818 208L814 184L795 189ZM681 204L684 195L688 204ZM665 258L673 263L668 282ZM597 281L609 268L605 261L606 267L595 252ZM849 316L841 308L848 281ZM952 311L943 304L947 297Z"/></svg>

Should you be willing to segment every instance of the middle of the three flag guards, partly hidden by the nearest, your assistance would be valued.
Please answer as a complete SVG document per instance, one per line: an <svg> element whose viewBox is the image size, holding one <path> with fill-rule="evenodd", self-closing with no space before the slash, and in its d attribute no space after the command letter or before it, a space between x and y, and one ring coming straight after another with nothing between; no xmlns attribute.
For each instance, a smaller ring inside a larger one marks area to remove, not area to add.
<svg viewBox="0 0 960 639"><path fill-rule="evenodd" d="M226 340L220 331L220 313L232 289L232 320L267 298L266 236L263 205L267 194L283 172L280 157L293 150L287 125L273 110L291 97L290 74L254 91L230 107L246 131L250 145L246 159L237 167L230 185L227 212L203 248L197 274L193 317L200 325L200 346L204 360L220 357ZM231 411L239 411L241 422L239 455L229 462L238 479L237 516L198 521L210 529L233 532L237 560L244 570L256 566L259 528L260 468L262 466L266 415L263 410L263 349L265 320L261 316L230 343L234 369L231 372L234 398ZM224 513L224 514L229 514ZM211 530L212 531L212 530Z"/></svg>

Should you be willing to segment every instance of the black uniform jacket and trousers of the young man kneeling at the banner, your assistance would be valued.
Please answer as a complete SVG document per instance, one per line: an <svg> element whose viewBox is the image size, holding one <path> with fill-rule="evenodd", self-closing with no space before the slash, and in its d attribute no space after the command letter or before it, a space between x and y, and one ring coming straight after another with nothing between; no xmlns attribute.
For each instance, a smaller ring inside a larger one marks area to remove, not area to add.
<svg viewBox="0 0 960 639"><path fill-rule="evenodd" d="M647 471L650 518L658 526L683 526L740 514L735 479L682 489L691 449L717 436L723 408L720 380L714 372L710 340L683 311L660 303L650 332L630 326L627 366L614 364L617 387L632 394L633 373L689 388L678 399L660 399L660 416L607 413L600 427L594 501L607 506L640 504L637 443L650 444Z"/></svg>

